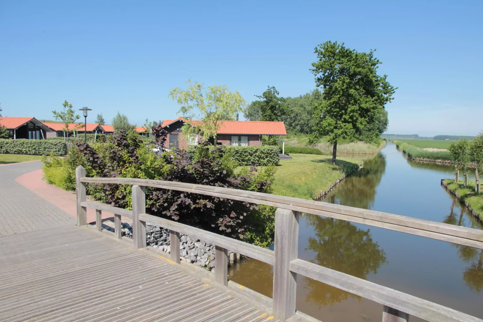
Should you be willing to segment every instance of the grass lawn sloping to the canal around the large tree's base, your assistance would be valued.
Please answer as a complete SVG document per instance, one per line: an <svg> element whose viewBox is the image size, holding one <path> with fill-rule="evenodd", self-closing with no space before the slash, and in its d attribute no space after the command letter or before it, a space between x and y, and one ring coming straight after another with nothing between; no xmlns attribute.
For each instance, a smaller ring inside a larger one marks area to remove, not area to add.
<svg viewBox="0 0 483 322"><path fill-rule="evenodd" d="M314 199L344 173L358 168L362 161L337 158L337 166L331 164L332 157L313 154L290 154L292 160L281 160L275 173L273 193Z"/></svg>

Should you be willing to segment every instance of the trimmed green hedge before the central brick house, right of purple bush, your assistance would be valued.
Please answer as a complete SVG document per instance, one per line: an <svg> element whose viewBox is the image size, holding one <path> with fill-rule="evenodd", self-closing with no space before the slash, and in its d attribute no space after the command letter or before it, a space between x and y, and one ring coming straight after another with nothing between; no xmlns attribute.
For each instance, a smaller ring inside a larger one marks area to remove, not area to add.
<svg viewBox="0 0 483 322"><path fill-rule="evenodd" d="M227 153L240 165L277 165L280 161L278 146L226 146Z"/></svg>

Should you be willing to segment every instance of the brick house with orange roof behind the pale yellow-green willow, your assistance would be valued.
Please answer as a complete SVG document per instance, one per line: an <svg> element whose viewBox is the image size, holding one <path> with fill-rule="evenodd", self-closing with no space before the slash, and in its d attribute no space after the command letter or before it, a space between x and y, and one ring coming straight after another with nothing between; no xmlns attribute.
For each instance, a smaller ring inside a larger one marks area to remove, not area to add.
<svg viewBox="0 0 483 322"><path fill-rule="evenodd" d="M172 120L164 120L162 127L168 132L168 139L164 147L166 148L187 148L189 145L198 144L200 135L192 134L188 138L181 135L181 128L189 122L196 126L196 120L187 120L178 117ZM262 135L287 135L284 122L268 121L222 121L222 125L216 134L218 144L225 146L260 146Z"/></svg>

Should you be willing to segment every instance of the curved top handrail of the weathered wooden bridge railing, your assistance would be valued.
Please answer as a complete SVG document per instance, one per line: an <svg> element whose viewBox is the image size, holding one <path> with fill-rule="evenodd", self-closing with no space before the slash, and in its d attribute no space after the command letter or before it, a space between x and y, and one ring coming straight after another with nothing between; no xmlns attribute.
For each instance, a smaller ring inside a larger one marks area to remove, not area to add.
<svg viewBox="0 0 483 322"><path fill-rule="evenodd" d="M483 231L446 223L394 215L369 209L328 204L320 201L284 197L263 192L236 190L223 187L136 178L80 178L81 182L142 185L199 193L214 197L270 205L278 208L309 213L317 216L341 219L369 226L385 228L455 244L483 249Z"/></svg>

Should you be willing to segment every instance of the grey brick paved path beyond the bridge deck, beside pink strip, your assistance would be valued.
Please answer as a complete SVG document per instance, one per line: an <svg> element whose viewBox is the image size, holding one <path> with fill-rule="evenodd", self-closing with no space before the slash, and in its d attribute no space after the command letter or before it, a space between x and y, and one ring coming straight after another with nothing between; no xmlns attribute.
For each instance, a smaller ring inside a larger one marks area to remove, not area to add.
<svg viewBox="0 0 483 322"><path fill-rule="evenodd" d="M75 225L75 219L15 181L42 167L41 161L0 167L0 235Z"/></svg>

